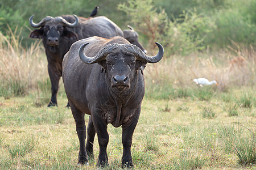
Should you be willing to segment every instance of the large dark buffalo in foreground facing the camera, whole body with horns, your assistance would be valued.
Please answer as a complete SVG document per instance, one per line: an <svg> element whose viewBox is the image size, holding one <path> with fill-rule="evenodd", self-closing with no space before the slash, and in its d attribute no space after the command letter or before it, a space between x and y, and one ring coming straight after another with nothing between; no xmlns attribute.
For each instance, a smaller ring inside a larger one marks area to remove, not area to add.
<svg viewBox="0 0 256 170"><path fill-rule="evenodd" d="M97 133L100 153L97 167L108 164L108 124L122 126L122 165L133 167L131 143L144 96L144 77L140 67L163 57L158 44L156 56L146 56L138 46L122 37L90 37L75 42L63 60L63 83L79 137L79 163L93 157ZM85 114L89 114L87 142Z"/></svg>

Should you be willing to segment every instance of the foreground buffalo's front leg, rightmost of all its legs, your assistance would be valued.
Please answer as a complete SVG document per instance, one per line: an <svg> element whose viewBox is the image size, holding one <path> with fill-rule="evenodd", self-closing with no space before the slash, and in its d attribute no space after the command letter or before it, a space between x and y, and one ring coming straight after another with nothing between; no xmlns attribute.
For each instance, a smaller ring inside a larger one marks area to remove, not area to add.
<svg viewBox="0 0 256 170"><path fill-rule="evenodd" d="M131 143L133 141L133 133L138 123L139 113L135 115L131 125L123 126L122 143L123 143L123 156L122 166L133 167L133 159L131 158Z"/></svg>

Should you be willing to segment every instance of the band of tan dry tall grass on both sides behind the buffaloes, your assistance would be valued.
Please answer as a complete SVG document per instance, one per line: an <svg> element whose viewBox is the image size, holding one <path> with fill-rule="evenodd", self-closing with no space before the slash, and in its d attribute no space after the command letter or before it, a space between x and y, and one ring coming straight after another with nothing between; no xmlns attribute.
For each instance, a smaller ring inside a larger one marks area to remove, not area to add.
<svg viewBox="0 0 256 170"><path fill-rule="evenodd" d="M18 84L26 93L36 88L39 80L48 77L47 61L40 41L24 48L19 41L20 32L10 30L9 37L0 32L0 82L1 87L10 86L10 83ZM255 85L255 48L232 43L228 49L217 52L164 56L159 63L147 65L146 81L149 84L167 83L174 87L196 88L193 79L204 77L217 80L220 91L232 86Z"/></svg>

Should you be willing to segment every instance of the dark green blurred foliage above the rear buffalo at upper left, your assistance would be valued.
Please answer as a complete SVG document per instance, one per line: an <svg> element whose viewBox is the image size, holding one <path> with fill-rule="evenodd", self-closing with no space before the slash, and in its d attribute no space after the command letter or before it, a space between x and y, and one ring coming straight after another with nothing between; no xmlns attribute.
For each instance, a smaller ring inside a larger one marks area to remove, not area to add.
<svg viewBox="0 0 256 170"><path fill-rule="evenodd" d="M23 29L22 37L25 39L23 45L31 44L35 40L27 39L30 31L34 28L28 23L31 15L34 16L34 21L39 22L46 16L61 16L72 15L89 17L90 12L93 11L96 5L100 6L97 16L105 15L113 20L118 25L122 25L124 20L123 15L117 17L117 1L115 0L81 0L81 1L68 1L68 0L1 0L0 1L0 31L3 35L9 35L7 24L10 25L11 30L19 27L26 27ZM127 27L126 27L127 28Z"/></svg>

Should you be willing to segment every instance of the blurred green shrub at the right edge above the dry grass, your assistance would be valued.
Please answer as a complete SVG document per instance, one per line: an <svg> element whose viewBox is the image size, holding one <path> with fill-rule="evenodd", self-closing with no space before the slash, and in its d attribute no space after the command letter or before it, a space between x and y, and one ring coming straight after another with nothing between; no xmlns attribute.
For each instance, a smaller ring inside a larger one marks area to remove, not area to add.
<svg viewBox="0 0 256 170"><path fill-rule="evenodd" d="M216 44L222 48L231 45L230 39L247 45L256 44L256 26L246 16L243 16L239 9L220 10L215 12L212 18L217 28L209 33L207 44Z"/></svg>

